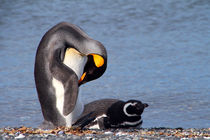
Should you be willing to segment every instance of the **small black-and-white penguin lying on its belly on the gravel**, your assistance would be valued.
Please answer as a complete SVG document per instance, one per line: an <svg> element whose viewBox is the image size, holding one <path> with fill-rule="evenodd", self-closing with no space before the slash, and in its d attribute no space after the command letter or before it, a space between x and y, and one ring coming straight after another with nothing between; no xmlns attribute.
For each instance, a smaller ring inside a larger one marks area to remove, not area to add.
<svg viewBox="0 0 210 140"><path fill-rule="evenodd" d="M89 129L140 127L141 114L148 104L138 100L124 102L117 99L102 99L85 105L75 127Z"/></svg>

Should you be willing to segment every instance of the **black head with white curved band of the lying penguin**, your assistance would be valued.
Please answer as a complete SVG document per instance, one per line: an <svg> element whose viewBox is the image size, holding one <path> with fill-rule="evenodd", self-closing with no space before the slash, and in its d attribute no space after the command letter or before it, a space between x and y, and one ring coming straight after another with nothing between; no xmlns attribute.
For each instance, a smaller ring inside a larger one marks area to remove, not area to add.
<svg viewBox="0 0 210 140"><path fill-rule="evenodd" d="M142 103L138 100L129 100L127 101L123 106L123 112L126 116L140 116L144 109L148 107L149 105L147 103Z"/></svg>

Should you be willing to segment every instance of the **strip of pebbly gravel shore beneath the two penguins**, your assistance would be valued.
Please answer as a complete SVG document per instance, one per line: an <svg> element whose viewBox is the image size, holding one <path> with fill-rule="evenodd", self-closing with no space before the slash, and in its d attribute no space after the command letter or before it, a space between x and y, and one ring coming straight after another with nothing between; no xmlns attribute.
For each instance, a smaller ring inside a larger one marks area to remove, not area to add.
<svg viewBox="0 0 210 140"><path fill-rule="evenodd" d="M0 128L0 140L7 139L210 139L210 128L141 128L141 129L109 129L109 130L79 130L59 127L53 130L40 130L25 126L19 128Z"/></svg>

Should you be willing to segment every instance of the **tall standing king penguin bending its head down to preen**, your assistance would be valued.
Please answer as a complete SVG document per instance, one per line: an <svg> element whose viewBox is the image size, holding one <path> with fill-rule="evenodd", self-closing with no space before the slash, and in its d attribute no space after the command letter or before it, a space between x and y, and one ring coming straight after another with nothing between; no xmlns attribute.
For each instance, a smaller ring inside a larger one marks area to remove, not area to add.
<svg viewBox="0 0 210 140"><path fill-rule="evenodd" d="M84 106L79 86L106 70L104 46L79 27L62 22L45 33L35 60L35 83L44 122L42 129L72 126Z"/></svg>

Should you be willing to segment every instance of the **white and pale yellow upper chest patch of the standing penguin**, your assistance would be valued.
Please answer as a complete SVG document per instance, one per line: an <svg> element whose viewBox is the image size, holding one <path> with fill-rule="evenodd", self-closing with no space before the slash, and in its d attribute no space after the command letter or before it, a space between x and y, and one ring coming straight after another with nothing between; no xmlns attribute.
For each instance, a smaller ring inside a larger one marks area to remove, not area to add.
<svg viewBox="0 0 210 140"><path fill-rule="evenodd" d="M85 64L87 63L87 56L81 54L74 48L67 48L64 56L63 63L71 68L77 75L78 79L81 78Z"/></svg>

